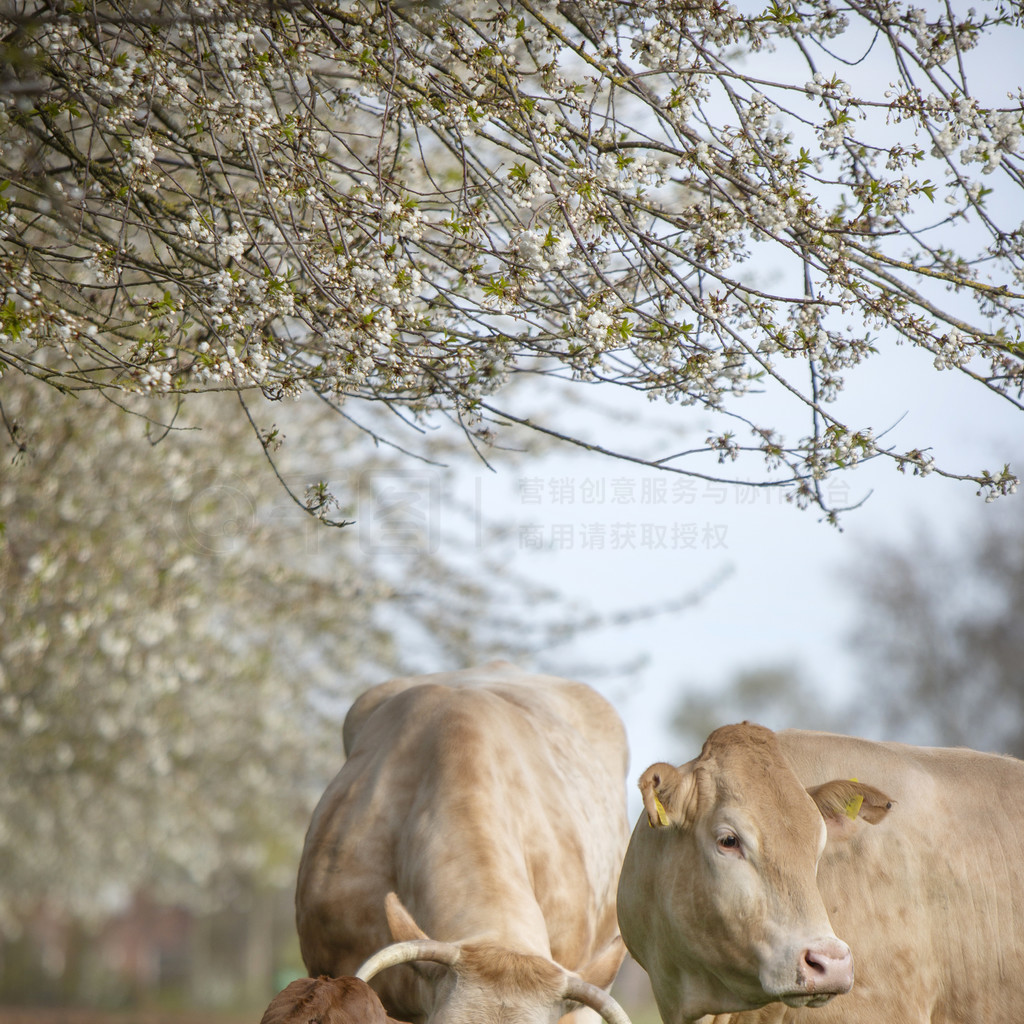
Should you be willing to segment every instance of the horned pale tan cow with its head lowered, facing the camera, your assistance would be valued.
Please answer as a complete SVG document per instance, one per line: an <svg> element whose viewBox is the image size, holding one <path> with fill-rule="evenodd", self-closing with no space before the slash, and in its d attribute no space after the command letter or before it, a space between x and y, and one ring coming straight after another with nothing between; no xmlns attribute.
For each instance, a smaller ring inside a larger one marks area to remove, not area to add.
<svg viewBox="0 0 1024 1024"><path fill-rule="evenodd" d="M629 838L625 729L603 697L496 662L373 687L343 738L299 865L310 974L387 946L359 976L414 1024L596 1020L575 1002L628 1021L603 991L626 955Z"/></svg>

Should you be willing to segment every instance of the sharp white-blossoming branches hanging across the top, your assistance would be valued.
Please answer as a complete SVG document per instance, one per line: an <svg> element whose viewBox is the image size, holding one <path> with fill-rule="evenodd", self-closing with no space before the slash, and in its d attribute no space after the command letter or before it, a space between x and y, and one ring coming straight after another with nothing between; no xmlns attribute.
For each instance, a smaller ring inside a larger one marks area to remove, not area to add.
<svg viewBox="0 0 1024 1024"><path fill-rule="evenodd" d="M1020 29L993 0L7 0L0 369L637 458L524 414L535 375L718 424L638 460L670 471L825 508L886 458L994 497L1007 467L842 395L902 343L1024 406L1024 100L989 74Z"/></svg>

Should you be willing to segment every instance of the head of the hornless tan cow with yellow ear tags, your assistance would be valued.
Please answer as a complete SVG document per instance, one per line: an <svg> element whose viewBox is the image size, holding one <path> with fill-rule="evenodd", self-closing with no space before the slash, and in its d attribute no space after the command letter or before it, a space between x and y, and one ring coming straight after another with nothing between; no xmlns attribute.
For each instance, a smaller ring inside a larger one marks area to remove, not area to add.
<svg viewBox="0 0 1024 1024"><path fill-rule="evenodd" d="M856 780L805 790L775 734L713 732L696 760L640 778L644 814L618 885L618 925L667 1022L781 1000L817 1007L853 985L816 874L829 842L891 802Z"/></svg>

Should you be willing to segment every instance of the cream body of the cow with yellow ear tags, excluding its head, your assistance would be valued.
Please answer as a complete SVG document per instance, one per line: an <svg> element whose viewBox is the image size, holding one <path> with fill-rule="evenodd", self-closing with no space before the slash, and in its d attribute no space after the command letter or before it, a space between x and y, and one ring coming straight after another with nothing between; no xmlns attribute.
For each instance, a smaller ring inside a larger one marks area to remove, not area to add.
<svg viewBox="0 0 1024 1024"><path fill-rule="evenodd" d="M885 820L829 843L818 888L853 950L852 991L737 1020L806 1024L1024 1021L1024 762L798 730L779 740L808 786L858 778Z"/></svg>

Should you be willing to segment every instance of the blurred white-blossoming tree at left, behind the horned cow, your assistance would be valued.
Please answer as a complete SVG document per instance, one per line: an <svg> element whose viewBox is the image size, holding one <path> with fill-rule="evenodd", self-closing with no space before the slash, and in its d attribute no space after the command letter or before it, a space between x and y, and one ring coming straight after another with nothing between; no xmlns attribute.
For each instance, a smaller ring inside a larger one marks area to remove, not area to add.
<svg viewBox="0 0 1024 1024"><path fill-rule="evenodd" d="M4 396L0 930L40 899L291 886L354 692L538 643L514 598L542 595L415 538L399 557L325 529L206 399L147 438L99 395L15 375ZM290 422L330 458L306 411ZM381 453L344 469L353 493L398 478Z"/></svg>

